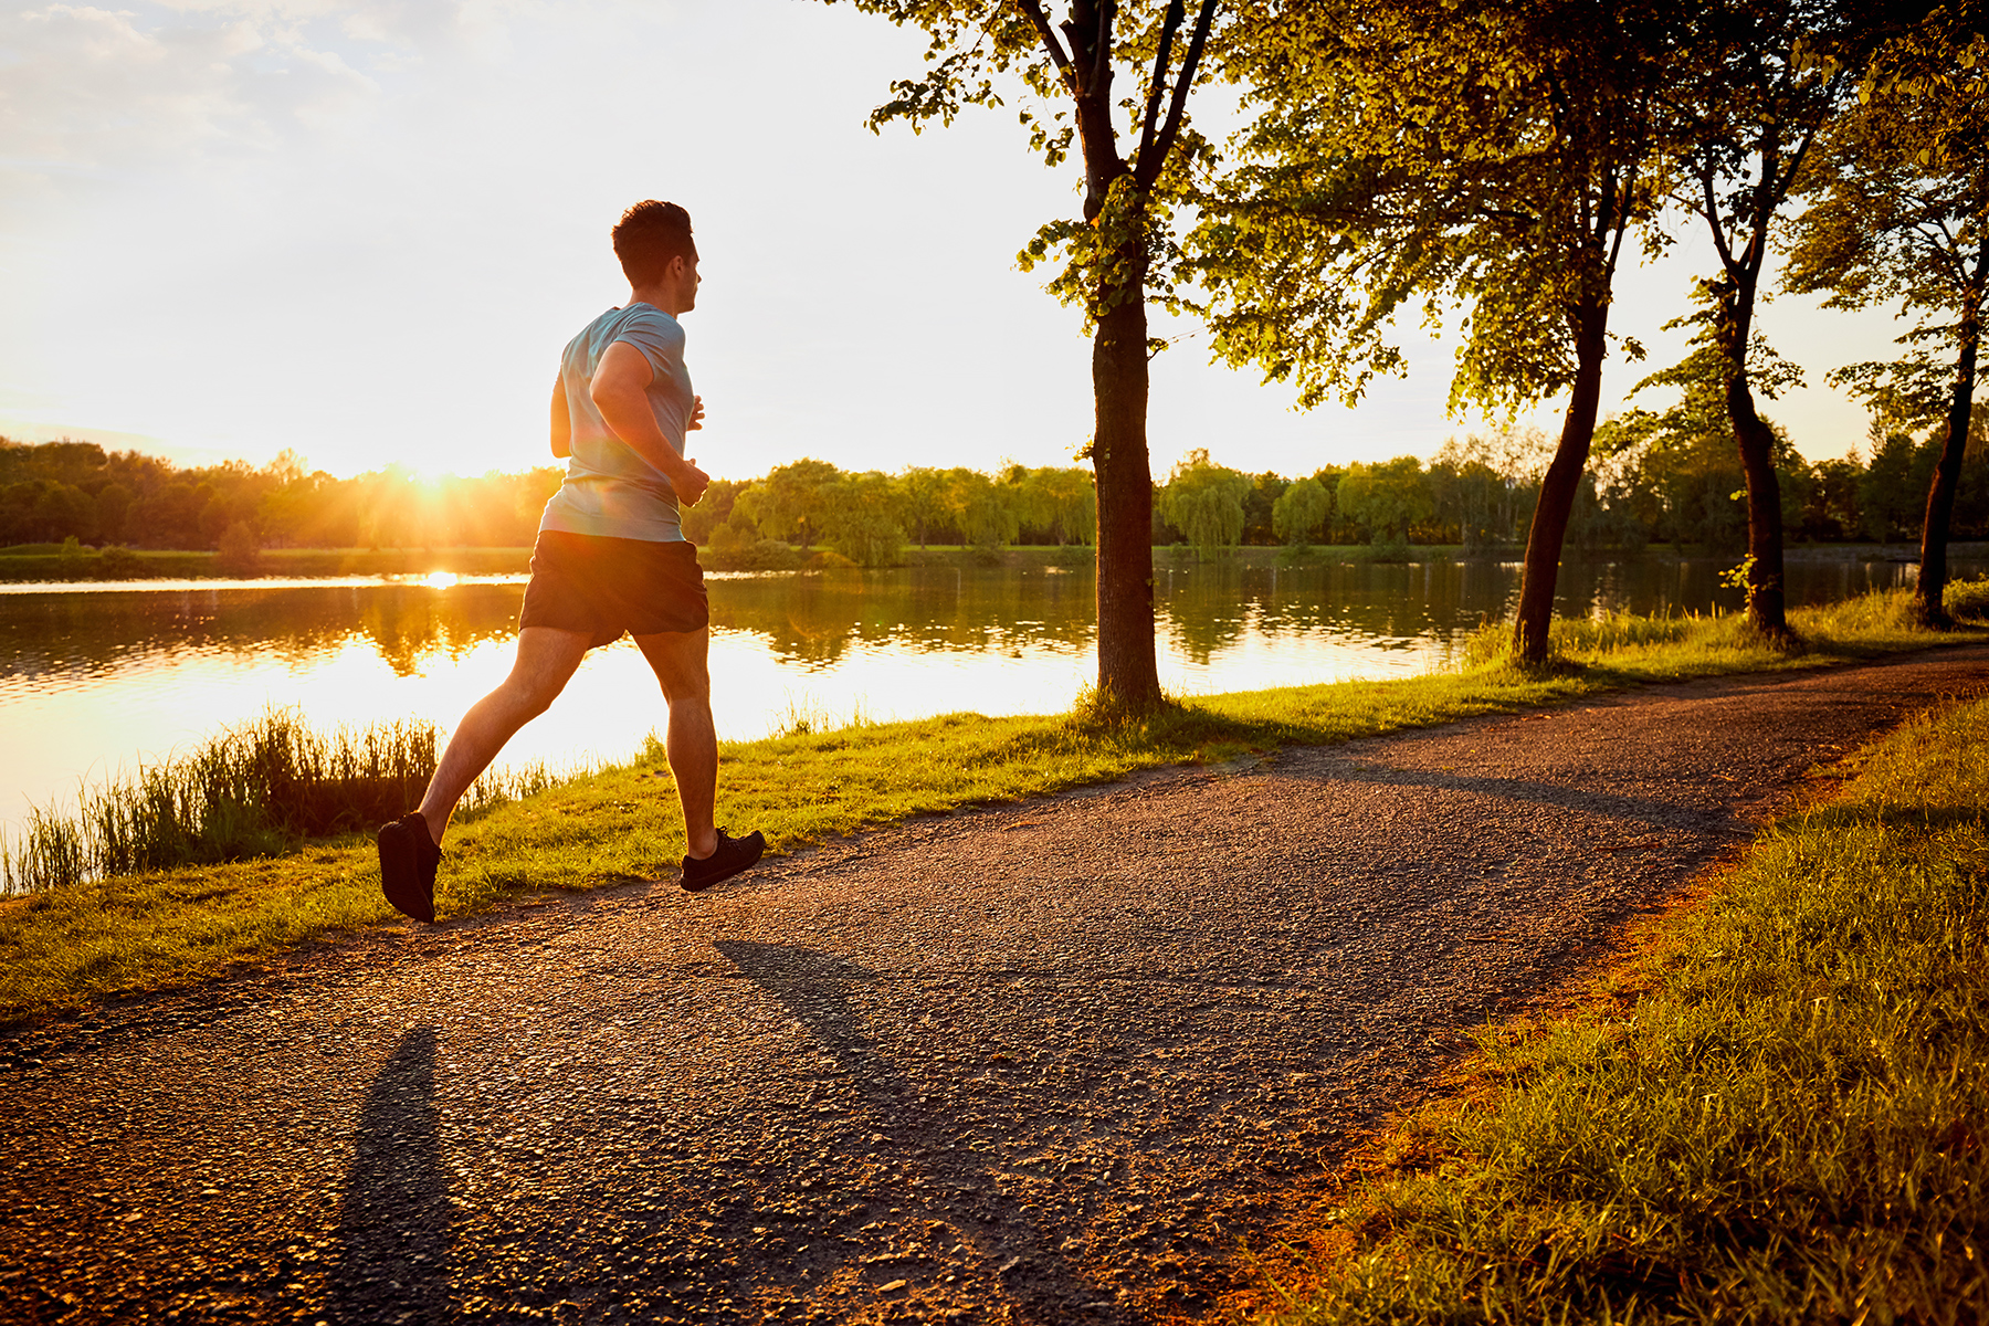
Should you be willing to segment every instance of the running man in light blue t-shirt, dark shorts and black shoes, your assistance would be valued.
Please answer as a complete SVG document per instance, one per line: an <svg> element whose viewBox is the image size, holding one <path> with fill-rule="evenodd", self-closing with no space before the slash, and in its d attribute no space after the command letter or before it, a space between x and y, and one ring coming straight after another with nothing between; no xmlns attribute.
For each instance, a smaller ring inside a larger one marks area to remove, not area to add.
<svg viewBox="0 0 1989 1326"><path fill-rule="evenodd" d="M553 384L553 455L569 457L567 479L539 519L517 662L455 728L422 809L380 829L386 901L416 920L436 918L440 843L463 791L513 732L553 704L587 650L623 632L634 636L670 706L664 751L688 847L680 883L710 889L766 851L758 831L734 839L712 825L710 618L698 551L678 523L678 503L696 505L710 483L684 457L684 433L704 423L676 322L698 302L690 213L636 203L615 227L615 256L629 302L567 344Z"/></svg>

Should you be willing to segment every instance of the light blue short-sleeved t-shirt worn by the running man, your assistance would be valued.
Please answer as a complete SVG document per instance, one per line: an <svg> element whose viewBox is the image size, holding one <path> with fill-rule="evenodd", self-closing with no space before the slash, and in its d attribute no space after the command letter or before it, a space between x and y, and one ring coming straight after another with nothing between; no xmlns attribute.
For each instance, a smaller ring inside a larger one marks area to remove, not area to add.
<svg viewBox="0 0 1989 1326"><path fill-rule="evenodd" d="M539 529L682 543L684 527L670 481L615 435L589 394L601 356L617 340L629 342L648 360L648 410L664 439L678 455L684 453L684 423L690 421L694 400L690 372L684 368L684 328L652 304L607 310L567 342L559 356L559 382L573 419L573 455L567 459L567 481L545 503Z"/></svg>

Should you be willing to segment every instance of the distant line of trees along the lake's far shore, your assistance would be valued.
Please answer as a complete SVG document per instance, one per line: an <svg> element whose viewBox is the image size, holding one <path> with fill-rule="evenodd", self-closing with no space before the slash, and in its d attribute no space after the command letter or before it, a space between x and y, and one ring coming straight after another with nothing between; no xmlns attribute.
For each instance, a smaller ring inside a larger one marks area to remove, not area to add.
<svg viewBox="0 0 1989 1326"><path fill-rule="evenodd" d="M1744 479L1730 435L1693 427L1679 412L1631 412L1597 431L1597 463L1569 525L1577 549L1637 551L1651 543L1728 553L1746 545ZM1955 535L1989 537L1983 414L1971 429ZM1808 541L1909 539L1917 533L1937 445L1874 435L1870 453L1810 463L1778 441L1788 531ZM1553 453L1537 429L1452 439L1436 459L1327 465L1289 479L1217 465L1205 451L1156 485L1154 543L1207 555L1225 547L1372 543L1462 545L1526 541L1539 479ZM243 461L181 469L86 441L0 439L0 545L76 539L137 549L432 549L525 547L561 471L422 479L390 467L352 479L304 471L284 453L261 469ZM684 513L686 535L712 565L784 567L810 549L881 567L905 547L1090 545L1092 477L1082 467L911 467L847 471L819 459L760 479L714 481Z"/></svg>

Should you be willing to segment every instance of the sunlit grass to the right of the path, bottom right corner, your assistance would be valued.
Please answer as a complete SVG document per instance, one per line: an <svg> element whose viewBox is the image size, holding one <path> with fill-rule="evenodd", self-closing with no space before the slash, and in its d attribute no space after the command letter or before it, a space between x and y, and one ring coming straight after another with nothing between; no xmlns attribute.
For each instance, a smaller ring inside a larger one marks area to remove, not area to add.
<svg viewBox="0 0 1989 1326"><path fill-rule="evenodd" d="M1868 747L1575 1010L1450 1091L1249 1320L1989 1312L1989 702Z"/></svg>

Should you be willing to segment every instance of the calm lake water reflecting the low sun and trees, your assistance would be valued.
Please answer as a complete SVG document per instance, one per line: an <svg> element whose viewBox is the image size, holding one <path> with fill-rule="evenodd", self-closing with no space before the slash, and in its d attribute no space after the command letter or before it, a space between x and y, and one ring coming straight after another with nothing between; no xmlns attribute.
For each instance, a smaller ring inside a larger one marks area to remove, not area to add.
<svg viewBox="0 0 1989 1326"><path fill-rule="evenodd" d="M1561 610L1732 608L1730 563L1571 565ZM1963 563L1957 575L1983 567ZM1898 563L1796 565L1794 602L1901 584ZM1209 694L1420 672L1518 592L1516 563L1253 571L1162 557L1162 684ZM1088 571L712 577L712 688L724 738L794 716L1052 712L1096 670ZM318 726L420 716L444 728L511 662L523 579L448 584L251 580L0 586L0 829L84 779L129 773L267 706ZM511 763L633 753L664 718L636 648L589 654Z"/></svg>

